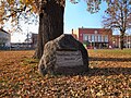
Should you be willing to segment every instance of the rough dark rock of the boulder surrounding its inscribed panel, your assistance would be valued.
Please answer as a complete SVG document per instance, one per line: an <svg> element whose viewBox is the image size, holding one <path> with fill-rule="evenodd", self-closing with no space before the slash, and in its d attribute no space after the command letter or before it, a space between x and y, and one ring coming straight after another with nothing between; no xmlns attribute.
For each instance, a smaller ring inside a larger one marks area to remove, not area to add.
<svg viewBox="0 0 131 98"><path fill-rule="evenodd" d="M83 65L57 66L57 51L81 51ZM44 54L38 64L39 72L50 74L80 74L88 70L88 54L84 46L72 35L63 34L60 37L48 41L44 47Z"/></svg>

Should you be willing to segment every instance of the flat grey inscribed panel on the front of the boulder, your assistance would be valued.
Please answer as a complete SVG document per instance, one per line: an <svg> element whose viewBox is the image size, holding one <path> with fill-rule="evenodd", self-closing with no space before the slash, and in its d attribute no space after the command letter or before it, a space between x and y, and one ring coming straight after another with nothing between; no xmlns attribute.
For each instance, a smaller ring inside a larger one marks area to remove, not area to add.
<svg viewBox="0 0 131 98"><path fill-rule="evenodd" d="M83 65L81 51L56 51L56 64L58 66Z"/></svg>

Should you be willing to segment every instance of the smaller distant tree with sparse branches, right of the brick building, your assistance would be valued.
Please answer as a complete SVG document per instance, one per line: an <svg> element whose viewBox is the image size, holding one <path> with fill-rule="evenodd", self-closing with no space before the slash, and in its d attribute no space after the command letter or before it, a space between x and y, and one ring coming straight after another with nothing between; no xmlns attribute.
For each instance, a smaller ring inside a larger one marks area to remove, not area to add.
<svg viewBox="0 0 131 98"><path fill-rule="evenodd" d="M131 0L110 0L103 24L120 30L120 48L123 49L126 30L131 28Z"/></svg>

